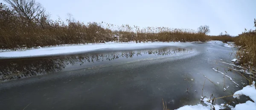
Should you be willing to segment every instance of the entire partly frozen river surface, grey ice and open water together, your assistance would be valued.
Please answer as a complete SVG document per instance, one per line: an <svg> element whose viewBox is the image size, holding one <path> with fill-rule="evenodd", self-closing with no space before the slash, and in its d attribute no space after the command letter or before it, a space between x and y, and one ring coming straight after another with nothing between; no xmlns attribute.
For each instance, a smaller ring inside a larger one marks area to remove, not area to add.
<svg viewBox="0 0 256 110"><path fill-rule="evenodd" d="M31 103L28 110L161 110L163 99L172 110L198 104L203 86L203 96L222 97L246 83L236 71L225 72L233 50L210 42L186 48L0 60L5 81L0 82L0 107L23 109ZM238 103L232 97L216 100L217 104L229 101L233 106Z"/></svg>

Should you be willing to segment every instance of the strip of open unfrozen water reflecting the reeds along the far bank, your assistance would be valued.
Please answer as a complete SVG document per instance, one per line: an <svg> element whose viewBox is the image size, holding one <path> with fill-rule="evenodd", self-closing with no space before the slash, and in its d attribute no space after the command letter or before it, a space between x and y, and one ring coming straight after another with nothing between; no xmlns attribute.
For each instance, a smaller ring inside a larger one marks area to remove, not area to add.
<svg viewBox="0 0 256 110"><path fill-rule="evenodd" d="M154 50L134 50L93 54L64 55L40 58L19 58L0 60L0 80L13 80L38 74L69 71L111 63L122 63L147 58L161 58L194 52L192 49L160 48Z"/></svg>

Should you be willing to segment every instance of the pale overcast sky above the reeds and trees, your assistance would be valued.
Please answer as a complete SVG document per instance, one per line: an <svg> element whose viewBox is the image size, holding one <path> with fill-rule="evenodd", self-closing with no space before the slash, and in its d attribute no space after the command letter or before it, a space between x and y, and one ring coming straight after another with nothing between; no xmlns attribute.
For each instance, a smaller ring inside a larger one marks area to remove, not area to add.
<svg viewBox="0 0 256 110"><path fill-rule="evenodd" d="M157 26L197 29L209 25L210 35L227 31L236 36L253 29L256 0L36 0L51 19L67 19L67 13L81 22L114 25ZM0 0L3 2L3 0Z"/></svg>

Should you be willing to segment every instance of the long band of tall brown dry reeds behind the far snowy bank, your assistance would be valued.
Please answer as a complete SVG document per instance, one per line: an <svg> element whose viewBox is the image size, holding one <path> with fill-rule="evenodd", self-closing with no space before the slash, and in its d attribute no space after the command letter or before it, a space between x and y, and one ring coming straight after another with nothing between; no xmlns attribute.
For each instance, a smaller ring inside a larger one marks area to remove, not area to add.
<svg viewBox="0 0 256 110"><path fill-rule="evenodd" d="M40 23L20 17L6 5L0 5L0 49L54 46L61 44L87 44L146 41L207 41L206 35L196 30L169 27L116 26L108 23L61 19L42 19Z"/></svg>

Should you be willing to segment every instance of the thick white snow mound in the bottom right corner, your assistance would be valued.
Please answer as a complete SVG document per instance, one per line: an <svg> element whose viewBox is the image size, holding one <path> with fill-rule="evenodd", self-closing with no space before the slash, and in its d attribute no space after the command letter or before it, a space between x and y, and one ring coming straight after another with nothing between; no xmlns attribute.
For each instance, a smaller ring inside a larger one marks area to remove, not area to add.
<svg viewBox="0 0 256 110"><path fill-rule="evenodd" d="M242 90L236 91L234 93L234 98L239 99L241 95L249 96L250 99L245 103L242 104L236 104L236 107L234 107L232 110L255 110L256 109L256 89L255 89L255 81L253 81L252 85L245 86Z"/></svg>

